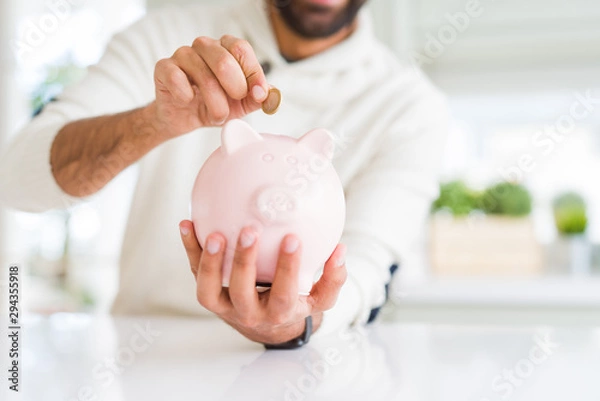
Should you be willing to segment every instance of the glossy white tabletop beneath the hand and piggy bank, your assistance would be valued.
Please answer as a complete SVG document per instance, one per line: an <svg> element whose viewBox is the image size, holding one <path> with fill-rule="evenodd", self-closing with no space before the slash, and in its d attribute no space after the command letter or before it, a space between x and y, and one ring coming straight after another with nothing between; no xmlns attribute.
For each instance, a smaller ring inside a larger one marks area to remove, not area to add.
<svg viewBox="0 0 600 401"><path fill-rule="evenodd" d="M57 314L23 335L28 401L600 400L594 327L386 322L265 352L214 319Z"/></svg>

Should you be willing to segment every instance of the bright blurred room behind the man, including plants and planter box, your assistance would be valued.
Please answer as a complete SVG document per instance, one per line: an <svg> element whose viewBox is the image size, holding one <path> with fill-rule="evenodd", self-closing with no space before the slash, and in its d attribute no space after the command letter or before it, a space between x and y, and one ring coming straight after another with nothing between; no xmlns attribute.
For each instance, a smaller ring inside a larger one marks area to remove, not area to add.
<svg viewBox="0 0 600 401"><path fill-rule="evenodd" d="M112 34L172 3L3 0L0 141ZM441 195L395 278L397 304L600 306L600 3L370 0L370 12L454 115ZM30 310L108 309L135 175L67 211L0 210L0 261L24 268Z"/></svg>

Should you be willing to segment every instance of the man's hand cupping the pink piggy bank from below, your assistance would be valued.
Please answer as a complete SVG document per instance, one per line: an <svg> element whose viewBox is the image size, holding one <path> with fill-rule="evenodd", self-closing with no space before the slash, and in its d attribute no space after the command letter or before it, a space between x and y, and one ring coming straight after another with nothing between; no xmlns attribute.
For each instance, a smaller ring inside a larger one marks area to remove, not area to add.
<svg viewBox="0 0 600 401"><path fill-rule="evenodd" d="M279 344L304 331L304 319L312 315L315 327L323 311L332 308L346 281L345 246L339 244L325 263L323 275L308 296L298 295L300 241L287 235L281 243L271 289L256 289L258 234L251 228L240 233L235 250L229 288L222 287L221 266L226 240L218 233L208 236L206 249L196 238L193 223L179 225L183 245L196 278L198 302L250 340ZM316 330L316 328L315 328Z"/></svg>

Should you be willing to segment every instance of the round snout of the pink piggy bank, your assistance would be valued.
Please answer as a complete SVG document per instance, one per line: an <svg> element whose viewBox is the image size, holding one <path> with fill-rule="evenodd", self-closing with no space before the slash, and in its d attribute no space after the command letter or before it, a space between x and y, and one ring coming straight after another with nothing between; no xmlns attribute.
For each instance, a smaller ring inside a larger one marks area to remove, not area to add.
<svg viewBox="0 0 600 401"><path fill-rule="evenodd" d="M266 225L289 223L298 214L298 196L287 187L260 188L253 203L255 214Z"/></svg>

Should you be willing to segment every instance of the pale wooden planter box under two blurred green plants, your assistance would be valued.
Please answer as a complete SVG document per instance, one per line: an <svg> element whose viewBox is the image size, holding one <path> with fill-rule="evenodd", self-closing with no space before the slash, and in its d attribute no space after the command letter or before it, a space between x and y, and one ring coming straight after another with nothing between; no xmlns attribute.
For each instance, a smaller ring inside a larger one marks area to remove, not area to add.
<svg viewBox="0 0 600 401"><path fill-rule="evenodd" d="M527 277L542 272L542 248L528 217L438 214L430 228L436 276Z"/></svg>

